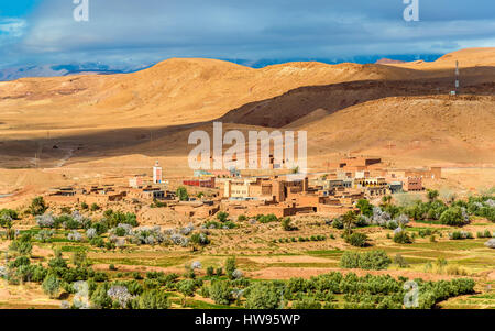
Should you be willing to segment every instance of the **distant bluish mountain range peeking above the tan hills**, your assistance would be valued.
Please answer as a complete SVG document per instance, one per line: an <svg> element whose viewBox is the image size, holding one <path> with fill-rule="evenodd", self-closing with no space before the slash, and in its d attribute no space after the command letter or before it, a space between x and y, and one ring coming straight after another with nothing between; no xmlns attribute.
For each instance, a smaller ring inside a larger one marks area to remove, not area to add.
<svg viewBox="0 0 495 331"><path fill-rule="evenodd" d="M244 58L220 58L239 65L251 68L264 68L271 65L279 65L289 62L320 62L323 64L336 65L341 63L356 63L356 64L393 64L422 59L426 62L433 62L438 59L441 54L422 54L422 55L374 55L374 56L354 56L345 58L263 58L263 59L244 59ZM389 58L393 58L389 59ZM386 63L385 63L386 62ZM31 65L18 66L11 68L0 69L0 81L15 80L25 77L59 77L68 75L110 75L110 74L129 74L142 69L146 69L156 63L128 65L128 66L111 66L101 63L80 63L80 64L57 64L57 65Z"/></svg>

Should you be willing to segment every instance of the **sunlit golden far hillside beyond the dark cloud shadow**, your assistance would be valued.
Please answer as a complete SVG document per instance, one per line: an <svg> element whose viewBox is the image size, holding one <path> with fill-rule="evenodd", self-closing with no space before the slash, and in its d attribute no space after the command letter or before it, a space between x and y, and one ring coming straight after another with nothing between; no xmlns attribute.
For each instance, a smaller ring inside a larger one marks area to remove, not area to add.
<svg viewBox="0 0 495 331"><path fill-rule="evenodd" d="M378 65L289 63L252 69L213 59L168 59L129 75L0 82L0 128L32 131L195 123L301 86L416 74Z"/></svg>

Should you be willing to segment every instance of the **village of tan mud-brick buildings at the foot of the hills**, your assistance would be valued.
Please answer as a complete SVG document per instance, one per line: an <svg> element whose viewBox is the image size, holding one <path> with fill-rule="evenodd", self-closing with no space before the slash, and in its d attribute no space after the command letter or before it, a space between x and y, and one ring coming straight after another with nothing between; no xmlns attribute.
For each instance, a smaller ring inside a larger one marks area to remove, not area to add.
<svg viewBox="0 0 495 331"><path fill-rule="evenodd" d="M190 218L208 218L219 211L232 217L275 214L278 218L299 213L338 217L355 209L360 199L424 190L425 180L440 179L440 167L396 169L381 158L343 157L327 164L327 172L315 174L267 174L242 176L242 172L196 170L191 178L167 178L155 164L152 176L107 178L105 184L54 188L45 195L50 203L94 203L111 207L156 205ZM274 172L275 173L275 172ZM185 187L187 199L177 197Z"/></svg>

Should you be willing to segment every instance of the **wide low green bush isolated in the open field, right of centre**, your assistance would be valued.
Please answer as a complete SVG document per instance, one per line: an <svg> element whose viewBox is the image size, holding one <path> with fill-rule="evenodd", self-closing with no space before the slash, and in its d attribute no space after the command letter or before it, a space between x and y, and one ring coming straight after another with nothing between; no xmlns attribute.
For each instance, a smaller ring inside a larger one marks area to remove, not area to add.
<svg viewBox="0 0 495 331"><path fill-rule="evenodd" d="M340 258L340 265L343 268L362 268L371 271L386 269L392 260L384 251L370 252L344 252Z"/></svg>

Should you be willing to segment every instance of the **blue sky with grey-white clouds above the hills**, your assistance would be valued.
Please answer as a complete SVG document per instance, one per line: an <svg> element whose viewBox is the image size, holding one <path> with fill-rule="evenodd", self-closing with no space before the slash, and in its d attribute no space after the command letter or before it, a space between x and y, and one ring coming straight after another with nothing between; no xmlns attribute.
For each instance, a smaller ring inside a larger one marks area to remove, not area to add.
<svg viewBox="0 0 495 331"><path fill-rule="evenodd" d="M493 0L0 0L0 68L169 57L328 59L495 46Z"/></svg>

